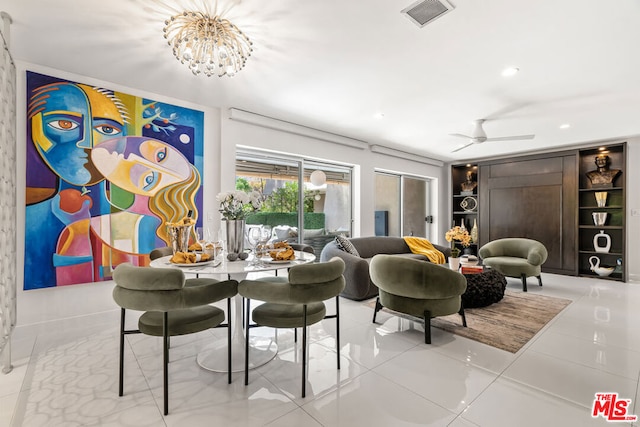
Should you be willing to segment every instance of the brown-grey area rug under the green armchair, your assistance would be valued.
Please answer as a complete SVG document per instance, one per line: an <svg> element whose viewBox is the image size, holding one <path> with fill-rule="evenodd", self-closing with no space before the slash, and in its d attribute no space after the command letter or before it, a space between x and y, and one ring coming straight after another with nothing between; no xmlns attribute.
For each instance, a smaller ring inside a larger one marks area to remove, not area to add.
<svg viewBox="0 0 640 427"><path fill-rule="evenodd" d="M431 326L516 353L569 304L571 300L507 290L495 304L466 309L466 328L459 314L433 318Z"/></svg>

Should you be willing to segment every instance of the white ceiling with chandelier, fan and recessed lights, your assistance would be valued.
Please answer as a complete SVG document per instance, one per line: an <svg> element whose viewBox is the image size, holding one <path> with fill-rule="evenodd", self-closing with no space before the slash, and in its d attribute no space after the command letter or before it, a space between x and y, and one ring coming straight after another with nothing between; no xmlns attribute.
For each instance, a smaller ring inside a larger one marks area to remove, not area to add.
<svg viewBox="0 0 640 427"><path fill-rule="evenodd" d="M254 42L233 78L192 75L162 36L164 19L202 1L0 0L0 10L17 60L445 161L640 134L638 0L450 0L424 28L400 13L414 0L219 0ZM502 77L508 66L520 73ZM451 153L466 141L449 134L481 118L489 137L536 138Z"/></svg>

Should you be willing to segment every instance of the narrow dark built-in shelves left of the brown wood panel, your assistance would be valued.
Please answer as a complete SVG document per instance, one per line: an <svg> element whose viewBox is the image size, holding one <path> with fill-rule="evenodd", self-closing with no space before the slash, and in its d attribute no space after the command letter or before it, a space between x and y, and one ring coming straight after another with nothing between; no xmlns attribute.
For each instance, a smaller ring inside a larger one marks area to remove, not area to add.
<svg viewBox="0 0 640 427"><path fill-rule="evenodd" d="M463 191L462 184L467 181L467 175L471 173L471 180L476 183L472 190L467 188L467 191ZM474 224L479 226L478 209L478 165L453 165L451 166L451 183L453 185L453 197L451 212L452 224L462 225L464 223L465 228L471 233ZM479 230L478 230L479 232ZM469 248L463 248L462 245L456 244L464 253L478 254L478 240L477 238ZM466 249L466 250L465 250Z"/></svg>

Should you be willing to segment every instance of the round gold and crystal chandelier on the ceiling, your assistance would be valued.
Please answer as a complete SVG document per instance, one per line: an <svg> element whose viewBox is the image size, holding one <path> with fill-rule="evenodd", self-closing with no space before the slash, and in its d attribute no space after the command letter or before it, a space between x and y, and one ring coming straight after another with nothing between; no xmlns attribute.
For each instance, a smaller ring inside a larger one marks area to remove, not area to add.
<svg viewBox="0 0 640 427"><path fill-rule="evenodd" d="M173 54L195 75L232 77L253 51L251 40L218 15L183 12L164 21L164 25L164 38Z"/></svg>

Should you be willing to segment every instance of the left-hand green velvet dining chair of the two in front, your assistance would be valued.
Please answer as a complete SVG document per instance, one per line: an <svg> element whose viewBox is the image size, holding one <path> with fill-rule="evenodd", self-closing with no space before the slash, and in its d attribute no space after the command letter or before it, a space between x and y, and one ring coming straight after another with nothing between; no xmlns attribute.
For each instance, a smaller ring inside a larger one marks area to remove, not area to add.
<svg viewBox="0 0 640 427"><path fill-rule="evenodd" d="M188 279L178 268L136 267L120 264L113 272L116 286L113 299L121 307L120 313L120 382L119 395L124 391L124 337L143 333L163 338L164 414L169 413L169 337L227 327L228 381L231 383L231 317L223 324L224 311L208 305L227 299L227 314L231 297L237 294L238 282L215 279ZM138 319L137 330L125 330L126 310L144 311Z"/></svg>

